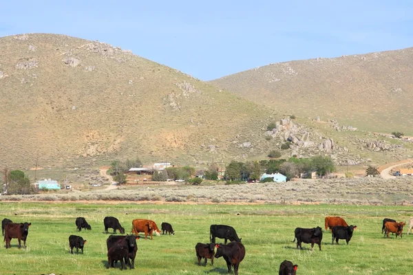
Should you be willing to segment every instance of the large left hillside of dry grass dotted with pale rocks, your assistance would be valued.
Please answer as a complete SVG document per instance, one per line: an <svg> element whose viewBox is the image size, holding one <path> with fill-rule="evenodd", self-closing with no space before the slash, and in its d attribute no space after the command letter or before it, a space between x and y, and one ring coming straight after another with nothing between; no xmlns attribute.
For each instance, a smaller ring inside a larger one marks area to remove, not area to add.
<svg viewBox="0 0 413 275"><path fill-rule="evenodd" d="M98 41L0 38L0 164L194 164L270 150L273 111ZM251 146L239 146L250 142Z"/></svg>

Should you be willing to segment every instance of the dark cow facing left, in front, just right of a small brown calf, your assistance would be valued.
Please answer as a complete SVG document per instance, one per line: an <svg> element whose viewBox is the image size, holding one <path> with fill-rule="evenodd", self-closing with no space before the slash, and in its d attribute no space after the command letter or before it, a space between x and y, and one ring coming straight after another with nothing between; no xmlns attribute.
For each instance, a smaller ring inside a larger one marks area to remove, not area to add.
<svg viewBox="0 0 413 275"><path fill-rule="evenodd" d="M215 252L215 258L224 257L226 266L228 267L228 273L231 272L231 265L234 267L234 275L238 275L238 267L245 256L244 245L237 241L231 241L227 245L215 245L218 248Z"/></svg>

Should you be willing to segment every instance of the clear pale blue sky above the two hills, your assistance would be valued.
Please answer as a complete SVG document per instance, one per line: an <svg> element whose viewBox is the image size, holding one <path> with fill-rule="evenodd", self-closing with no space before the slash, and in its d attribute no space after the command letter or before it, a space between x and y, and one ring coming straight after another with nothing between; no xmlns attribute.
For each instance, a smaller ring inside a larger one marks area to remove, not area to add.
<svg viewBox="0 0 413 275"><path fill-rule="evenodd" d="M31 32L110 43L212 80L269 63L413 47L413 1L3 1L0 36Z"/></svg>

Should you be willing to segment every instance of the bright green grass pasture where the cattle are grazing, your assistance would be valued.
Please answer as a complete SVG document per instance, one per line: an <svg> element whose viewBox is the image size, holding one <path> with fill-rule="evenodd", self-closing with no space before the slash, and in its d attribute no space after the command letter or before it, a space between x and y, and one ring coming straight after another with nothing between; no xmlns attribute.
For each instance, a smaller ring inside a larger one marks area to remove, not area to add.
<svg viewBox="0 0 413 275"><path fill-rule="evenodd" d="M383 238L381 222L389 217L407 221L412 209L403 206L330 206L330 205L222 205L222 204L83 204L83 203L0 203L0 218L32 223L26 250L0 249L1 274L120 274L106 270L107 234L103 218L118 217L126 232L132 219L153 219L173 225L174 236L140 239L136 269L129 274L226 274L224 259L215 259L212 267L198 266L195 244L209 242L209 225L232 225L242 238L246 256L240 274L276 274L279 264L288 259L299 265L297 274L411 274L413 236L403 239ZM296 227L324 228L325 214L344 217L357 225L350 245L341 240L331 245L331 235L324 233L322 251L310 252L310 245L296 250ZM76 217L85 217L92 230L76 232ZM87 240L84 254L70 254L70 234ZM223 241L223 240L222 240Z"/></svg>

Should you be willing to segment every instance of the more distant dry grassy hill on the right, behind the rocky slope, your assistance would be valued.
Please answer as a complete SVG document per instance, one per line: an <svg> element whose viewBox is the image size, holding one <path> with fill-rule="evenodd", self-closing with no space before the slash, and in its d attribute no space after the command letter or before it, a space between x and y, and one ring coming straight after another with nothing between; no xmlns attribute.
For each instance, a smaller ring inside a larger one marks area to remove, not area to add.
<svg viewBox="0 0 413 275"><path fill-rule="evenodd" d="M271 64L211 81L258 104L413 135L413 48Z"/></svg>

